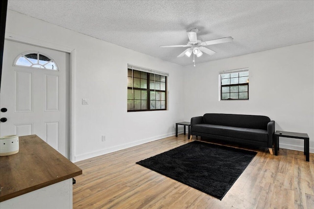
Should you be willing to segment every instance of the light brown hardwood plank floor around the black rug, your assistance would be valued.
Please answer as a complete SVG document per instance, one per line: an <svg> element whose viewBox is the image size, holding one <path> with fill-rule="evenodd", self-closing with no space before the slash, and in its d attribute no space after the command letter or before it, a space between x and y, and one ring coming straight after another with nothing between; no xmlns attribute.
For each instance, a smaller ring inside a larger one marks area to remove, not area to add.
<svg viewBox="0 0 314 209"><path fill-rule="evenodd" d="M168 137L76 163L74 209L314 209L314 154L258 154L220 201L136 162L190 142ZM195 137L193 137L195 139ZM242 146L243 148L243 146Z"/></svg>

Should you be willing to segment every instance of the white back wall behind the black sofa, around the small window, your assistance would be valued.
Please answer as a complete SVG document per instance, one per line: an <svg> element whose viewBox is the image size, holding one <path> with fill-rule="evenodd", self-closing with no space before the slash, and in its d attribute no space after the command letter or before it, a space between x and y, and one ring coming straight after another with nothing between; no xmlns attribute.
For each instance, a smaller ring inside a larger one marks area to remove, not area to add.
<svg viewBox="0 0 314 209"><path fill-rule="evenodd" d="M247 67L249 100L219 101L218 72ZM268 116L276 130L307 133L314 152L314 42L185 67L184 83L185 121L205 113ZM303 150L303 140L281 138L280 146Z"/></svg>

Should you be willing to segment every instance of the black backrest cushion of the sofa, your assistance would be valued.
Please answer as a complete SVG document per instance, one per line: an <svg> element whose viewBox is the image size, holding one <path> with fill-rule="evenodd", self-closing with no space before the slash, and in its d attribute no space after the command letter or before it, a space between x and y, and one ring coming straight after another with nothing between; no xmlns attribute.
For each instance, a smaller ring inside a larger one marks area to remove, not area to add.
<svg viewBox="0 0 314 209"><path fill-rule="evenodd" d="M267 123L269 121L270 119L267 116L215 114L215 113L208 113L203 116L203 122L206 124L263 130L267 130Z"/></svg>

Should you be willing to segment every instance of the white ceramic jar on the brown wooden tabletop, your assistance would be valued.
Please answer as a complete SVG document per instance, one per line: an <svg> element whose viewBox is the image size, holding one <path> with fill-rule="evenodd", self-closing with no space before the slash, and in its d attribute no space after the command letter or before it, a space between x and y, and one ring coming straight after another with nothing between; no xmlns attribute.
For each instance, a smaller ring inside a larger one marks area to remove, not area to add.
<svg viewBox="0 0 314 209"><path fill-rule="evenodd" d="M9 135L0 138L0 156L13 155L19 152L19 137Z"/></svg>

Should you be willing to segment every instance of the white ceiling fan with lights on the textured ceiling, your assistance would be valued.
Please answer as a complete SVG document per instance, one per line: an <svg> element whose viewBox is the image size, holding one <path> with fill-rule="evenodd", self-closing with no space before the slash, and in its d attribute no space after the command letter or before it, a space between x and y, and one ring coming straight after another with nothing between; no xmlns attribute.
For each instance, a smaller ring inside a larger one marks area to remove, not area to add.
<svg viewBox="0 0 314 209"><path fill-rule="evenodd" d="M215 39L210 41L202 41L201 39L197 39L197 28L193 28L190 31L186 31L189 41L186 45L167 45L167 46L160 46L160 47L189 47L188 49L185 49L181 54L179 54L177 57L183 57L186 55L187 57L190 57L193 53L193 62L195 66L195 55L197 57L200 57L203 55L203 52L209 55L213 55L216 53L215 51L206 48L204 46L214 45L214 44L222 44L227 42L232 42L232 37L226 37L221 39Z"/></svg>

